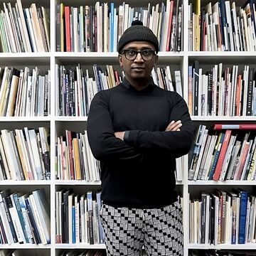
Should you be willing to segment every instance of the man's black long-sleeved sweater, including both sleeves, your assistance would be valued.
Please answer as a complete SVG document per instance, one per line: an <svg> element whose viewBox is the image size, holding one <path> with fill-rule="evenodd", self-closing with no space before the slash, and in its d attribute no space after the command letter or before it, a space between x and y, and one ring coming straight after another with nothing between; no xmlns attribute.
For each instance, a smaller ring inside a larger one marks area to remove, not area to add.
<svg viewBox="0 0 256 256"><path fill-rule="evenodd" d="M181 131L165 132L181 120ZM114 132L129 131L125 141ZM176 158L187 154L194 127L176 92L153 80L143 90L124 82L97 92L90 105L87 134L100 160L102 200L115 207L159 208L176 201Z"/></svg>

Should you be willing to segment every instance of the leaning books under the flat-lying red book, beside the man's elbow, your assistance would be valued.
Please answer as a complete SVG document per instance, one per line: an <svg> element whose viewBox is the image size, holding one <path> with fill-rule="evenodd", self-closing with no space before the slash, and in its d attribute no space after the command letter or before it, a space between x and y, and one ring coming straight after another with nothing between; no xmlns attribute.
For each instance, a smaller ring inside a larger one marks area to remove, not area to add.
<svg viewBox="0 0 256 256"><path fill-rule="evenodd" d="M255 131L226 129L210 135L200 124L191 153L189 180L256 180Z"/></svg>

